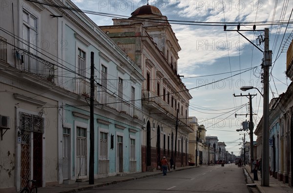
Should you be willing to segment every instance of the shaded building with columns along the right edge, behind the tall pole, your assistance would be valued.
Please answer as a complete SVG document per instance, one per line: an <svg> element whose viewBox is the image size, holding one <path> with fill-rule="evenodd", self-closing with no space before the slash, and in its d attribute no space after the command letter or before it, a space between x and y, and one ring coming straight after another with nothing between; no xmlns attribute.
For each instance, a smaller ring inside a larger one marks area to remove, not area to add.
<svg viewBox="0 0 293 193"><path fill-rule="evenodd" d="M287 51L286 76L293 81L293 41ZM270 174L293 186L292 160L293 160L293 82L287 91L270 102ZM257 135L257 157L261 157L262 143L262 120L259 122L256 131Z"/></svg>

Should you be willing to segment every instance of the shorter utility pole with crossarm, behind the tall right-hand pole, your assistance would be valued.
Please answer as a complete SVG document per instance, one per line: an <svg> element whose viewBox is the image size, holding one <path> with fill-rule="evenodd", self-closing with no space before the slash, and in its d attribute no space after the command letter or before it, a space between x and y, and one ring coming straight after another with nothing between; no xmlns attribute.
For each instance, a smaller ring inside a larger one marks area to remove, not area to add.
<svg viewBox="0 0 293 193"><path fill-rule="evenodd" d="M249 121L249 130L250 130L250 144L251 144L251 173L253 172L252 169L252 162L253 162L253 158L254 158L254 153L253 153L253 120L252 120L252 96L256 96L256 95L235 95L233 94L234 97L249 97L249 111L250 111L250 121Z"/></svg>

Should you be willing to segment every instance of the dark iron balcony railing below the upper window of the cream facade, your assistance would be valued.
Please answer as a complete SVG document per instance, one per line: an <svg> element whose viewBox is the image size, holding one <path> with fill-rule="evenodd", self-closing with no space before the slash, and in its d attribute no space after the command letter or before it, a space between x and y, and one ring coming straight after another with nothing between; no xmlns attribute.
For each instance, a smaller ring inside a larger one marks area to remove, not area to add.
<svg viewBox="0 0 293 193"><path fill-rule="evenodd" d="M20 60L16 67L19 70L33 73L48 81L54 82L54 64L48 62L26 50L19 49L15 52L16 58Z"/></svg>

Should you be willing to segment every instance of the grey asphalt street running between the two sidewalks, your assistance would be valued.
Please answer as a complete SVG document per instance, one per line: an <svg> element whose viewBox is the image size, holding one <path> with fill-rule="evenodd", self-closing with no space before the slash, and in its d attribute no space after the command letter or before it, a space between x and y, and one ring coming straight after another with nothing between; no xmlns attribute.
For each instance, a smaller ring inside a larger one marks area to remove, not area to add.
<svg viewBox="0 0 293 193"><path fill-rule="evenodd" d="M202 166L96 188L83 193L249 193L242 168Z"/></svg>

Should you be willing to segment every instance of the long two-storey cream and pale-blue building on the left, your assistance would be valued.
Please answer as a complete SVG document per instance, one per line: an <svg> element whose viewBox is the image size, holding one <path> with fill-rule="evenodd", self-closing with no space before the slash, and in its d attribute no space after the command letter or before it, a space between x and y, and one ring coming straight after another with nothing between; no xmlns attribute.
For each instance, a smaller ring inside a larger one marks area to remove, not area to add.
<svg viewBox="0 0 293 193"><path fill-rule="evenodd" d="M141 172L142 70L70 0L45 2L1 4L0 192L88 178L91 64L94 175Z"/></svg>

